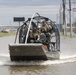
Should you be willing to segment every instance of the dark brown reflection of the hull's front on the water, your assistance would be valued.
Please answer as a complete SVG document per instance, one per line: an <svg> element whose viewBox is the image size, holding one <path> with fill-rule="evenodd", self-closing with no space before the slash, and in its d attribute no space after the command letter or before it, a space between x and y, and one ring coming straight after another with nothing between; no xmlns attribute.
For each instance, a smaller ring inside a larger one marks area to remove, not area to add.
<svg viewBox="0 0 76 75"><path fill-rule="evenodd" d="M46 66L10 66L10 75L39 75Z"/></svg>

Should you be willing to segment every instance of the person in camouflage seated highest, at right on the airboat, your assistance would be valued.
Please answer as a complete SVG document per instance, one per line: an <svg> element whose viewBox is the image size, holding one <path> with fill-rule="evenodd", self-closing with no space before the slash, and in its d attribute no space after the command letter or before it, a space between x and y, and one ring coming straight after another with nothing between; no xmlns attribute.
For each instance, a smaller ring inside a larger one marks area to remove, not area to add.
<svg viewBox="0 0 76 75"><path fill-rule="evenodd" d="M52 26L49 25L46 21L42 22L42 26L41 26L41 33L44 33L44 35L46 36L46 40L44 42L44 45L47 45L48 50L49 49L49 43L50 43L50 37L51 37L51 31L52 31Z"/></svg>

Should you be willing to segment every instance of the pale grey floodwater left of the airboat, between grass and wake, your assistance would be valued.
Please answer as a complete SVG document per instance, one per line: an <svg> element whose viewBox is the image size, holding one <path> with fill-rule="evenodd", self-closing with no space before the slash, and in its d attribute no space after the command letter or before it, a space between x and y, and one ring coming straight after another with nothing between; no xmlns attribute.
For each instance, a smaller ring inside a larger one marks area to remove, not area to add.
<svg viewBox="0 0 76 75"><path fill-rule="evenodd" d="M14 43L15 36L9 36L9 37L0 37L0 55L8 55L8 45L10 43Z"/></svg>

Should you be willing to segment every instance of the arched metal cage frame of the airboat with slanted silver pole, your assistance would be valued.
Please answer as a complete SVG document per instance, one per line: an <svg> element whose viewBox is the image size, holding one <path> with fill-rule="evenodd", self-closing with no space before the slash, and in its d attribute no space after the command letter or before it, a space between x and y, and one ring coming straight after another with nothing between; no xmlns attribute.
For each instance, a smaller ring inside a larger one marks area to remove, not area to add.
<svg viewBox="0 0 76 75"><path fill-rule="evenodd" d="M51 45L51 48L53 48L54 50L51 49L51 51L55 51L55 50L56 51L60 51L60 34L59 34L58 29L57 29L57 26L55 24L53 24L53 21L52 20L50 20L47 17L40 16L38 13L34 13L33 16L32 16L32 18L30 20L27 20L22 26L20 26L18 28L17 33L16 33L16 37L15 37L15 43L16 43L17 35L18 35L18 32L19 32L20 28L22 28L29 21L28 31L27 31L26 39L25 39L25 44L27 44L27 38L28 38L28 34L29 34L29 30L30 30L32 21L33 20L37 20L37 22L39 22L38 20L40 20L40 19L46 19L46 20L50 21L48 23L52 24L52 26L54 27L53 33L55 33L55 36L51 36L51 38L50 38L50 45ZM51 39L53 37L56 37L56 42L51 42ZM53 45L53 43L55 43L55 46Z"/></svg>

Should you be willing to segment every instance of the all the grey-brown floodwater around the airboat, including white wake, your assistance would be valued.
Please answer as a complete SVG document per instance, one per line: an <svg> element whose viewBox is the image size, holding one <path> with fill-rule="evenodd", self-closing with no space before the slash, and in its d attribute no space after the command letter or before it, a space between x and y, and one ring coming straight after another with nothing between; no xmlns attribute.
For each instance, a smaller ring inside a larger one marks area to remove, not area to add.
<svg viewBox="0 0 76 75"><path fill-rule="evenodd" d="M60 60L11 62L8 45L14 36L0 38L0 75L76 75L76 38L61 37Z"/></svg>

